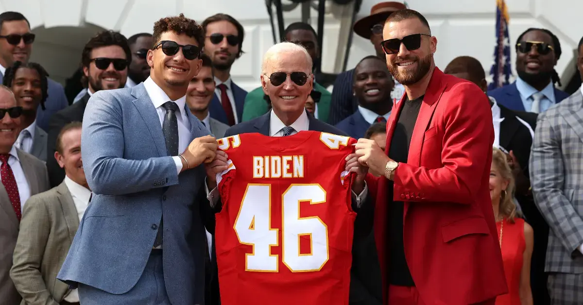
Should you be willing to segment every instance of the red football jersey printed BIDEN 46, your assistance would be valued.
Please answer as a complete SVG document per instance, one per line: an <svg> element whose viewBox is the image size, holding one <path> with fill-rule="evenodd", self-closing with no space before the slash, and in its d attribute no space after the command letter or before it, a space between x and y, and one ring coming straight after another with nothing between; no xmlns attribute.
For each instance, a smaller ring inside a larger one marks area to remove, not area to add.
<svg viewBox="0 0 583 305"><path fill-rule="evenodd" d="M219 139L216 254L223 305L348 304L356 140L317 131Z"/></svg>

